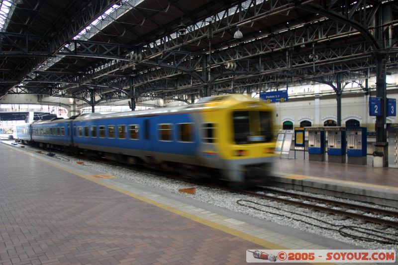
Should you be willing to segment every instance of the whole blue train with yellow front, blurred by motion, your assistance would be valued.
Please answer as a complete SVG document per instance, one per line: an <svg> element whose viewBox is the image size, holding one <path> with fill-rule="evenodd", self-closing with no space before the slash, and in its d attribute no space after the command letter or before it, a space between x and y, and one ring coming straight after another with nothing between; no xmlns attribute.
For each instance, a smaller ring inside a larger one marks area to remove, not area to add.
<svg viewBox="0 0 398 265"><path fill-rule="evenodd" d="M187 177L263 183L275 157L273 113L260 99L217 95L178 107L34 121L17 126L16 141Z"/></svg>

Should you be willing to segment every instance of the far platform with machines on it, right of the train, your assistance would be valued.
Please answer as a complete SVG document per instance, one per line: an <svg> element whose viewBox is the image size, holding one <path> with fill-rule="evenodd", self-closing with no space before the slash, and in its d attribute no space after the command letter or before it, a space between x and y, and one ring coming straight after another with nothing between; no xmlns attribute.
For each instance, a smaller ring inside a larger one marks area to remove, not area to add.
<svg viewBox="0 0 398 265"><path fill-rule="evenodd" d="M296 157L276 158L271 184L386 206L398 205L398 169L374 168L372 156L368 156L368 165L364 166L308 161L308 155L304 160L302 152L297 152Z"/></svg>

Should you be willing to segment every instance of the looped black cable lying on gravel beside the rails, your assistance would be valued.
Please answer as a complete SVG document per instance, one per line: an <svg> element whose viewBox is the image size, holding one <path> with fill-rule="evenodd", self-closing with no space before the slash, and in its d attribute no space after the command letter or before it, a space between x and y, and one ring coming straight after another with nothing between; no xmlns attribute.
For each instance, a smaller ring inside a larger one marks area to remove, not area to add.
<svg viewBox="0 0 398 265"><path fill-rule="evenodd" d="M313 223L310 223L310 222L307 222L307 221L304 221L304 220L301 220L301 219L298 219L298 218L286 216L285 214L280 214L280 213L276 213L276 212L268 212L268 211L259 209L258 207L255 207L255 206L245 205L245 204L243 204L241 202L253 203L253 204L261 205L261 206L264 206L264 207L274 208L274 209L277 209L279 211L284 211L284 212L300 215L300 216L303 216L303 217L306 217L306 218L314 219L314 220L316 220L318 222L321 222L321 223L324 223L324 224L327 224L327 225L330 225L330 226L336 227L336 228L329 228L329 227L316 225L316 224L313 224ZM305 215L305 214L301 214L301 213L297 213L297 212L292 212L292 211L280 209L280 208L275 207L275 206L266 205L266 204L258 203L258 202L251 201L251 200L239 199L239 200L236 201L236 203L238 205L241 205L241 206L244 206L244 207L248 207L248 208L252 208L252 209L255 209L255 210L258 210L258 211L261 211L261 212L272 213L272 214L275 214L275 215L278 215L278 216L282 216L282 217L286 217L286 218L289 218L289 219L292 219L292 220L295 220L295 221L298 221L298 222L302 222L302 223L305 223L305 224L308 224L308 225L311 225L311 226L315 226L315 227L326 229L326 230L330 230L330 231L335 231L335 232L338 232L340 235L342 235L344 237L350 237L350 238L353 238L353 239L359 239L359 240L364 240L364 241L368 241L368 242L378 242L378 243L389 244L389 245L398 244L398 239L392 239L391 237L386 237L386 236L382 236L382 235L376 235L376 234L373 234L373 233L370 233L370 232L358 231L358 229L367 230L367 231L380 233L380 234L382 233L383 235L397 236L396 234L393 234L393 233L380 232L380 231L377 231L377 230L374 230L374 229L363 228L363 227L359 227L359 226L336 225L336 224L329 223L329 222L323 221L321 219L318 219L318 218L315 218L315 217L312 217L312 216L308 216L308 215ZM366 235L373 236L373 237L379 237L379 238L383 238L383 239L386 239L386 240L373 239L373 238L369 238L369 237L362 237L362 236L353 235L353 234L350 234L348 232L343 231L344 229L351 229L353 231L356 231L356 232L359 232L359 233L362 233L362 234L366 234Z"/></svg>

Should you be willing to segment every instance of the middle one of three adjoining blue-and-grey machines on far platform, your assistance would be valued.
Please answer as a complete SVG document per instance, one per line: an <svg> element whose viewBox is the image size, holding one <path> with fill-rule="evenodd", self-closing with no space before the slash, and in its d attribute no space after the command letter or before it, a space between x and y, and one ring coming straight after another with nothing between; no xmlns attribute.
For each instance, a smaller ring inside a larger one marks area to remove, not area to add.
<svg viewBox="0 0 398 265"><path fill-rule="evenodd" d="M345 127L325 127L327 162L345 163Z"/></svg>

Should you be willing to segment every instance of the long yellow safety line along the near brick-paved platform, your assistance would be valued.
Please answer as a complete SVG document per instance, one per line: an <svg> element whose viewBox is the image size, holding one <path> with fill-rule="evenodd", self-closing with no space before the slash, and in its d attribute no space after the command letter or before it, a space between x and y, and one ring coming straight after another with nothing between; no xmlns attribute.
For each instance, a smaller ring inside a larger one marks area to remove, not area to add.
<svg viewBox="0 0 398 265"><path fill-rule="evenodd" d="M100 184L100 185L102 185L102 186L105 186L105 187L107 187L107 188L111 188L111 189L113 189L113 190L116 190L116 191L118 191L118 192L121 192L121 193L123 193L123 194L126 194L126 195L128 195L128 196L130 196L130 197L133 197L133 198L136 198L136 199L138 199L138 200L144 201L144 202L146 202L146 203L152 204L152 205L157 206L157 207L159 207L159 208L165 209L165 210L167 210L167 211L169 211L169 212L178 214L178 215L180 215L180 216L183 216L183 217L185 217L185 218L191 219L191 220L193 220L193 221L195 221L195 222L198 222L198 223L200 223L200 224L203 224L203 225L206 225L206 226L215 228L215 229L217 229L217 230L223 231L223 232L225 232L225 233L228 233L228 234L230 234L230 235L239 237L239 238L241 238L241 239L244 239L244 240L246 240L246 241L255 243L255 244L260 245L260 246L263 246L263 247L265 247L265 248L268 248L268 249L289 249L289 248L283 247L283 246L281 246L281 245L272 243L272 242L270 242L270 241L263 240L263 239L260 239L260 238L257 238L257 237L248 235L248 234L246 234L246 233L240 232L240 231L238 231L238 230L235 230L235 229L226 227L226 226L224 226L224 225L217 224L217 223L215 223L215 222L212 222L212 221L203 219L203 218L201 218L201 217L198 217L198 216L195 216L195 215L193 215L193 214L184 212L184 211L182 211L182 210L173 208L173 207L168 206L168 205L166 205L166 204L163 204L163 203L160 203L160 202L157 202L157 201L148 199L148 198L146 198L146 197L144 197L144 196L135 194L135 193L133 193L133 192L130 192L130 191L127 191L127 190L125 190L125 189L122 189L122 188L113 186L113 185L111 185L111 184L104 183L104 182L102 182L100 179L94 177L94 176L97 176L97 175L83 175L83 174L80 174L80 173L78 173L78 172L75 172L74 170L70 170L70 169L64 168L64 167L59 166L59 165L55 165L55 164L53 164L53 163L50 162L50 161L46 161L46 160L44 160L44 159L42 159L42 158L38 158L38 157L36 157L36 156L33 156L33 153L27 153L26 151L23 151L23 150L17 150L17 149L14 149L14 148L10 147L10 146L9 146L9 148L10 148L11 150L18 151L18 152L21 152L21 153L23 153L23 154L25 154L25 155L31 156L31 157L34 158L34 159L40 160L41 162L43 162L43 163L45 163L45 164L47 164L47 165L49 165L49 166L52 166L52 167L55 167L55 168L57 168L57 169L66 171L66 172L68 172L68 173L70 173L70 174L73 174L73 175L76 175L76 176L79 176L79 177L83 177L83 178L85 178L85 179L87 179L87 180L90 180L90 181L92 181L92 182L95 182L95 183L97 183L97 184ZM109 175L109 176L111 176L111 175ZM114 176L112 176L112 177L114 177Z"/></svg>

